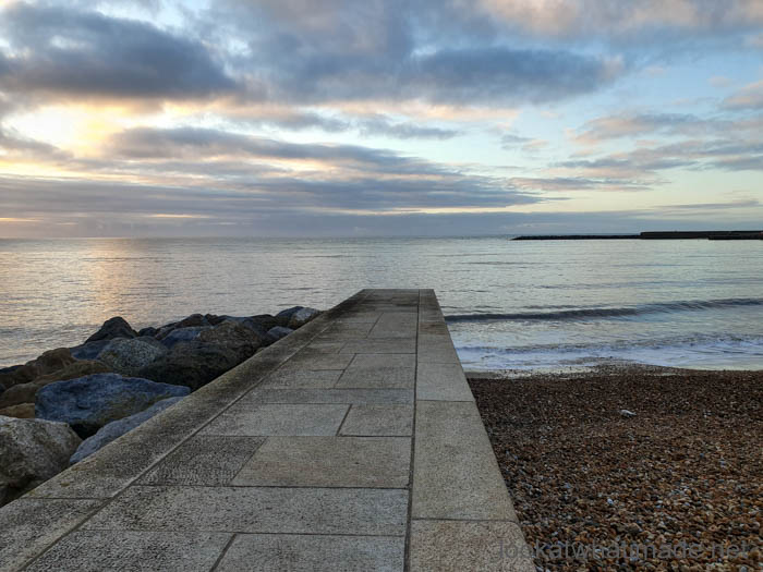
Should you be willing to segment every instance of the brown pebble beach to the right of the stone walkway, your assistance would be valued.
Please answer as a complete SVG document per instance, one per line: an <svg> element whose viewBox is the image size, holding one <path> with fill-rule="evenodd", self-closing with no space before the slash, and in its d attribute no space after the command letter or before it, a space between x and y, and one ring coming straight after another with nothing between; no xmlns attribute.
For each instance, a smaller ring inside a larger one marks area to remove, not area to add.
<svg viewBox="0 0 763 572"><path fill-rule="evenodd" d="M537 567L763 570L763 370L521 374L469 382ZM681 543L706 550L574 551Z"/></svg>

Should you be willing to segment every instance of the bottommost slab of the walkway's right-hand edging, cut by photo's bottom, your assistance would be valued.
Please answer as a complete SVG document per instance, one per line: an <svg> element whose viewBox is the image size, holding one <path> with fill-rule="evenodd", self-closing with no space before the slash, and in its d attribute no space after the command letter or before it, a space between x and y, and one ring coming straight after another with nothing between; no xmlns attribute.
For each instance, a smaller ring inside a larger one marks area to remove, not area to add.
<svg viewBox="0 0 763 572"><path fill-rule="evenodd" d="M535 572L535 565L516 523L414 520L410 570Z"/></svg>

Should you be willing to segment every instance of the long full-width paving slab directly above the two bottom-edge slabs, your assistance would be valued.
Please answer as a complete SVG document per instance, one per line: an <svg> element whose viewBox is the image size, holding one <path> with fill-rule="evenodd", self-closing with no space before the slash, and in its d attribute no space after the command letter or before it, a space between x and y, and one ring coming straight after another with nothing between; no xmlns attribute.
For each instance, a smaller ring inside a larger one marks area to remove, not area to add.
<svg viewBox="0 0 763 572"><path fill-rule="evenodd" d="M82 530L398 536L407 515L402 489L133 485Z"/></svg>

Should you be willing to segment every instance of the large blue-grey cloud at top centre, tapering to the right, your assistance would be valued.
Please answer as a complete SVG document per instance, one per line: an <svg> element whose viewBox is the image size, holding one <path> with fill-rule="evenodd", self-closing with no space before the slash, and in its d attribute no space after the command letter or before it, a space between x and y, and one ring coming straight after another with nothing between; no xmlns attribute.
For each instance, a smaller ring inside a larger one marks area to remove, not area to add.
<svg viewBox="0 0 763 572"><path fill-rule="evenodd" d="M231 1L215 4L204 21L246 38L235 66L274 100L293 104L552 101L596 90L626 71L617 57L480 35L471 14L433 1L332 0L319 11L302 0Z"/></svg>

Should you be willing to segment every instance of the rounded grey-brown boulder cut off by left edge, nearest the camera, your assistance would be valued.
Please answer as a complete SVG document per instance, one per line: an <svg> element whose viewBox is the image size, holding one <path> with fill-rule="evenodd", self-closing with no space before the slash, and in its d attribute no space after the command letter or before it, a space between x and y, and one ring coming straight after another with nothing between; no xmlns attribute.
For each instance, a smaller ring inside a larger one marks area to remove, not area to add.
<svg viewBox="0 0 763 572"><path fill-rule="evenodd" d="M78 445L65 423L0 417L0 504L66 468Z"/></svg>

